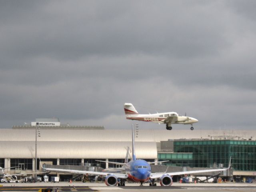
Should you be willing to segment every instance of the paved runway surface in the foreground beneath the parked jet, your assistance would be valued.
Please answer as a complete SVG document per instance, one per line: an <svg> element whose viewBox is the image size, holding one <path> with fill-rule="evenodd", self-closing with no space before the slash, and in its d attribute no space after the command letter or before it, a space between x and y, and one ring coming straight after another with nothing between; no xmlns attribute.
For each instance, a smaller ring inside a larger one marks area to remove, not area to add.
<svg viewBox="0 0 256 192"><path fill-rule="evenodd" d="M45 185L44 185L45 184ZM1 184L0 184L1 185ZM158 184L159 185L159 184ZM52 189L53 192L118 192L118 191L138 191L138 192L256 192L256 183L228 183L228 184L180 184L174 183L172 186L139 186L138 184L126 184L126 186L106 186L104 183L73 183L66 182L33 183L33 184L3 184L0 192L36 192L40 189Z"/></svg>

